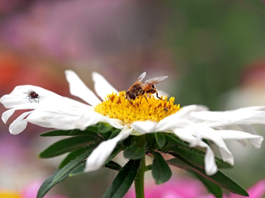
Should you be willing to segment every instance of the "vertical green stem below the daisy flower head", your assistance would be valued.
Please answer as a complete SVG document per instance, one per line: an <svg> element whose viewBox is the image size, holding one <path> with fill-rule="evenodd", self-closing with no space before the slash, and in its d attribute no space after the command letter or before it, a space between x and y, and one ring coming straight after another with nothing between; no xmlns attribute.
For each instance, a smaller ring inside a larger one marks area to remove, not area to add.
<svg viewBox="0 0 265 198"><path fill-rule="evenodd" d="M134 180L136 198L144 198L145 156L141 159L141 165Z"/></svg>

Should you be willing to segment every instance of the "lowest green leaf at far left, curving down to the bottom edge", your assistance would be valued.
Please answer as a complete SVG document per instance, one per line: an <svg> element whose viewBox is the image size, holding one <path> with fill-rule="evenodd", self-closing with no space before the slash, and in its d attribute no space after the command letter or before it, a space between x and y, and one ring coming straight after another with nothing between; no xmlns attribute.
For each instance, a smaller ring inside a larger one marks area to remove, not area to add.
<svg viewBox="0 0 265 198"><path fill-rule="evenodd" d="M55 171L52 175L50 175L41 185L41 187L39 188L39 191L37 193L37 198L42 198L54 185L56 185L57 183L61 182L62 180L64 180L66 177L68 177L68 174L64 174L60 180L58 180L57 183L53 183L52 180L54 179L55 175L57 175L57 173L59 172L59 170Z"/></svg>

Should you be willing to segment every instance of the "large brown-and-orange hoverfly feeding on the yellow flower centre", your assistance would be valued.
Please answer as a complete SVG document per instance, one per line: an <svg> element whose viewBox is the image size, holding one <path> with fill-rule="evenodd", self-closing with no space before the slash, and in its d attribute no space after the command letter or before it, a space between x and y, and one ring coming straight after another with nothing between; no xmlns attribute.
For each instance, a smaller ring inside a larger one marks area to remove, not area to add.
<svg viewBox="0 0 265 198"><path fill-rule="evenodd" d="M127 90L125 93L125 98L130 101L131 99L134 100L137 96L145 97L145 94L154 94L156 93L156 97L158 97L158 92L155 87L155 84L162 82L163 80L167 79L168 76L160 76L151 78L149 80L146 80L144 83L141 81L144 79L146 75L146 72L143 72L138 79L132 84L132 86ZM142 101L142 98L140 100L140 104ZM160 100L162 100L160 97L158 97ZM147 98L145 97L146 101L148 102Z"/></svg>

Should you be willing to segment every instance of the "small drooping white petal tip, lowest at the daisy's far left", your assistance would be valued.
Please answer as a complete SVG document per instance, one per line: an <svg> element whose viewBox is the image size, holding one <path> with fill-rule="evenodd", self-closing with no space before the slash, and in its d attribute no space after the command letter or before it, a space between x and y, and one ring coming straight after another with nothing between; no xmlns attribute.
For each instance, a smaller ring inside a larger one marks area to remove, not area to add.
<svg viewBox="0 0 265 198"><path fill-rule="evenodd" d="M17 119L15 119L9 126L9 132L13 135L19 134L27 127L28 122L23 120L26 116L33 111L24 112Z"/></svg>

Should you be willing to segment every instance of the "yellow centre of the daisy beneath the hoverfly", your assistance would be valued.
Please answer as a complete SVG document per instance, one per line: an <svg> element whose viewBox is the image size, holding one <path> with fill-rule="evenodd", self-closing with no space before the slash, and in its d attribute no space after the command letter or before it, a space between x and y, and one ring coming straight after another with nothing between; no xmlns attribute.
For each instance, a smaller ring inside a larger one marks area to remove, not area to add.
<svg viewBox="0 0 265 198"><path fill-rule="evenodd" d="M169 101L156 99L154 95L146 95L146 97L148 102L143 97L140 104L141 96L128 101L125 99L125 91L119 92L119 95L112 93L107 95L105 101L95 106L95 111L130 124L134 121L146 120L158 122L180 109L179 104L174 104L174 97L170 97ZM161 98L167 99L166 96Z"/></svg>

